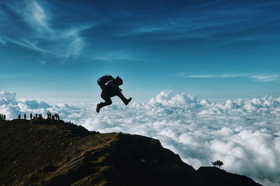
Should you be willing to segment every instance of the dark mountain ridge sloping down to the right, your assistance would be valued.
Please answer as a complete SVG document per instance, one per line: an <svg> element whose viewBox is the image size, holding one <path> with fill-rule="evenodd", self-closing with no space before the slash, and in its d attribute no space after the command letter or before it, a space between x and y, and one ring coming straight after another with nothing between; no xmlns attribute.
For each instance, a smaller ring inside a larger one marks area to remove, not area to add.
<svg viewBox="0 0 280 186"><path fill-rule="evenodd" d="M153 138L63 121L0 121L0 152L0 185L259 185L214 167L195 171Z"/></svg>

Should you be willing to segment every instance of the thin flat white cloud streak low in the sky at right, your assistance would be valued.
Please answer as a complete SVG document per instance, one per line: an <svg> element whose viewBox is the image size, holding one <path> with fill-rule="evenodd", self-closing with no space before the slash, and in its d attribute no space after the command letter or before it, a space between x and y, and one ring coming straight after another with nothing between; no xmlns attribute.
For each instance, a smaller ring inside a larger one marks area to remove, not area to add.
<svg viewBox="0 0 280 186"><path fill-rule="evenodd" d="M260 82L272 82L280 80L280 75L253 75L250 73L230 73L230 74L199 74L190 75L188 73L179 73L180 78L251 78Z"/></svg>

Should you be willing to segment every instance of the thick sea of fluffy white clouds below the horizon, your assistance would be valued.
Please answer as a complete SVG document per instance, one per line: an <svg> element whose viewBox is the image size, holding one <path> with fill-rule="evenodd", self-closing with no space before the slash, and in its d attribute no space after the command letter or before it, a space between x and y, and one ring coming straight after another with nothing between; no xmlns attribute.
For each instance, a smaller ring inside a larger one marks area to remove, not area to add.
<svg viewBox="0 0 280 186"><path fill-rule="evenodd" d="M98 114L95 105L17 100L15 92L0 92L0 113L8 120L49 110L89 130L157 138L195 169L219 159L226 171L280 185L280 97L211 103L165 90L148 103L116 102Z"/></svg>

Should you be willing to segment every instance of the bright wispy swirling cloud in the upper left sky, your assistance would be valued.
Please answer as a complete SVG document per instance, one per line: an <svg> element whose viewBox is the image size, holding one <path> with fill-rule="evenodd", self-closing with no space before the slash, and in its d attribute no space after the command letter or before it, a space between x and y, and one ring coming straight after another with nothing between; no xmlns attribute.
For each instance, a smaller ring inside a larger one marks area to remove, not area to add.
<svg viewBox="0 0 280 186"><path fill-rule="evenodd" d="M2 36L0 44L7 42L20 45L44 56L56 57L60 63L76 59L85 47L85 38L80 33L89 26L57 28L52 24L55 13L45 1L13 1L6 3L6 10L1 13L9 22L10 29L0 24ZM22 28L18 25L21 24ZM10 34L12 33L12 34Z"/></svg>

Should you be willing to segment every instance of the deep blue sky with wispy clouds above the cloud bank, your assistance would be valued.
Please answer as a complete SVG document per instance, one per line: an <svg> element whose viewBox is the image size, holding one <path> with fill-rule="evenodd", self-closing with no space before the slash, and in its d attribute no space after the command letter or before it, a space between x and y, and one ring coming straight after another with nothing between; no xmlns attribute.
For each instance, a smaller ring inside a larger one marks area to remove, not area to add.
<svg viewBox="0 0 280 186"><path fill-rule="evenodd" d="M280 96L279 1L1 1L0 90L95 101L126 96Z"/></svg>

